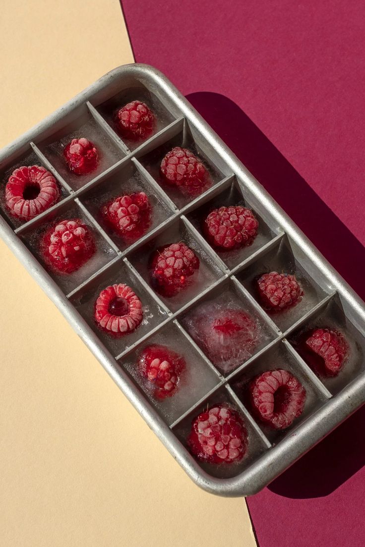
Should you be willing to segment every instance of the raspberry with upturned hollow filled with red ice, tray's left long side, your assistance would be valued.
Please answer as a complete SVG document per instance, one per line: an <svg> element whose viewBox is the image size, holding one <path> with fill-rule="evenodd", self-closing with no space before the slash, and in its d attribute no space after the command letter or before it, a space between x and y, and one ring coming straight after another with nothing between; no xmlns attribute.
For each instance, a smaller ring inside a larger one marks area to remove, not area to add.
<svg viewBox="0 0 365 547"><path fill-rule="evenodd" d="M111 285L99 294L94 317L99 327L109 334L131 333L142 321L142 303L128 285Z"/></svg>

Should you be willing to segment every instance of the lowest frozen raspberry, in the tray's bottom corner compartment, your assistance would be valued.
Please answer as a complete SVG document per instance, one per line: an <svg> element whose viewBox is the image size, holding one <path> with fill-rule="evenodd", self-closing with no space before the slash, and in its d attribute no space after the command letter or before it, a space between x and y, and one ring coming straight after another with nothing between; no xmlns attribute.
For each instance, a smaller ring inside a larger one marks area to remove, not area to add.
<svg viewBox="0 0 365 547"><path fill-rule="evenodd" d="M239 413L228 405L216 404L192 423L188 446L201 461L239 462L247 452L247 430Z"/></svg>

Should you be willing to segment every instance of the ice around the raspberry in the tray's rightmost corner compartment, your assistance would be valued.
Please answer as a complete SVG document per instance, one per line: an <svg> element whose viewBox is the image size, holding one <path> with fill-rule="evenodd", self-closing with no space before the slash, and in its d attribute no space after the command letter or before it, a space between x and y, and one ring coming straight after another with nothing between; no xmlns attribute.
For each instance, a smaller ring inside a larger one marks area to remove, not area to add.
<svg viewBox="0 0 365 547"><path fill-rule="evenodd" d="M318 371L314 369L315 373L320 377L321 382L335 395L346 387L349 382L354 380L356 376L364 372L363 348L365 347L365 339L355 325L346 317L341 300L338 295L335 295L325 306L309 317L304 324L301 324L288 337L288 340L308 366L311 366L310 358L308 358L310 352L305 351L305 340L318 328L330 329L341 333L347 342L347 358L337 376L324 376L323 374L318 374Z"/></svg>

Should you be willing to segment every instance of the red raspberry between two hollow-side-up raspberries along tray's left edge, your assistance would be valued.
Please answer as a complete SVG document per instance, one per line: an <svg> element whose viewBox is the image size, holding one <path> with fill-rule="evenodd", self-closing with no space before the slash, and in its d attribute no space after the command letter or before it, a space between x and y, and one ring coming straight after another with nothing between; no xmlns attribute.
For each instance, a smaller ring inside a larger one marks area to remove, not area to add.
<svg viewBox="0 0 365 547"><path fill-rule="evenodd" d="M71 274L95 253L95 241L82 220L62 220L46 232L40 251L55 271Z"/></svg>

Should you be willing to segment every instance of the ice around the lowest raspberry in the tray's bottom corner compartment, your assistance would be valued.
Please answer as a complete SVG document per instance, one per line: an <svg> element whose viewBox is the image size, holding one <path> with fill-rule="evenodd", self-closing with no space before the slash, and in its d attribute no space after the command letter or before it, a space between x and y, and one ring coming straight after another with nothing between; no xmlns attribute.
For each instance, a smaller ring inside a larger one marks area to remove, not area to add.
<svg viewBox="0 0 365 547"><path fill-rule="evenodd" d="M195 420L196 417L198 417L202 412L205 412L207 409L209 409L211 406L214 406L216 404L226 404L231 409L236 410L239 412L242 421L245 424L245 428L247 430L247 452L244 456L244 458L241 459L239 462L232 462L232 463L207 463L199 461L195 456L193 456L196 461L198 461L200 467L204 469L207 473L209 473L212 476L219 477L222 479L228 479L230 477L239 475L251 465L256 459L258 459L260 456L263 455L263 453L268 449L268 446L265 444L263 439L258 434L257 430L254 429L252 424L250 423L250 420L247 416L242 412L242 410L237 405L236 401L231 397L229 391L225 387L221 387L217 389L216 392L209 395L207 399L205 399L201 404L196 406L194 410L189 412L189 414L184 417L180 422L176 424L176 426L173 427L173 432L178 437L178 439L181 441L181 443L189 450L187 439L189 437L190 431L192 430L192 422Z"/></svg>

